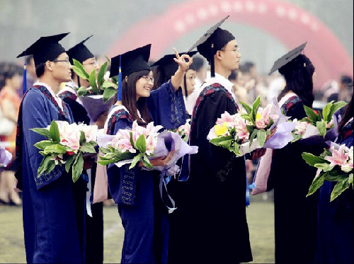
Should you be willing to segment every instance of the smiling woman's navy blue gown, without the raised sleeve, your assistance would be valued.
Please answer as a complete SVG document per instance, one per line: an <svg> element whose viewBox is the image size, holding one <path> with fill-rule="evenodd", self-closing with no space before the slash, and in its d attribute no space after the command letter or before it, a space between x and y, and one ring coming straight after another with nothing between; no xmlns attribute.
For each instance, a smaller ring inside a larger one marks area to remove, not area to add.
<svg viewBox="0 0 354 264"><path fill-rule="evenodd" d="M131 127L129 113L118 110L108 122L108 134ZM156 188L159 178L153 171L129 166L110 164L107 171L110 195L125 229L121 263L166 263L168 220Z"/></svg>

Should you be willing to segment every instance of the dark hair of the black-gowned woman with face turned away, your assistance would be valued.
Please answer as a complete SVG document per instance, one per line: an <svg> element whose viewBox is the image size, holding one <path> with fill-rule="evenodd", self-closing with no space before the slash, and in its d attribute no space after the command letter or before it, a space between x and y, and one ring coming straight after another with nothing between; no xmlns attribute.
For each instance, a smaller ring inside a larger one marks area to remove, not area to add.
<svg viewBox="0 0 354 264"><path fill-rule="evenodd" d="M281 67L279 72L284 76L286 86L278 96L278 100L288 91L292 91L304 101L304 105L311 108L314 102L314 83L312 81L314 65L309 58L304 54L299 54L291 62Z"/></svg>

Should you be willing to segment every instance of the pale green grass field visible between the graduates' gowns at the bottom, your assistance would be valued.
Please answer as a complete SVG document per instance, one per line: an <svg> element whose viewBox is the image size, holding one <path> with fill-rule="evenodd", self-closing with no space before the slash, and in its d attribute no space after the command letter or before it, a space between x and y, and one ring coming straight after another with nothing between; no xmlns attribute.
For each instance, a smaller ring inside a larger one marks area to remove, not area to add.
<svg viewBox="0 0 354 264"><path fill-rule="evenodd" d="M269 200L269 199L268 199ZM117 207L104 207L104 263L119 263L124 230ZM274 263L274 207L261 195L251 197L247 219L252 263ZM0 263L25 263L22 208L0 206Z"/></svg>

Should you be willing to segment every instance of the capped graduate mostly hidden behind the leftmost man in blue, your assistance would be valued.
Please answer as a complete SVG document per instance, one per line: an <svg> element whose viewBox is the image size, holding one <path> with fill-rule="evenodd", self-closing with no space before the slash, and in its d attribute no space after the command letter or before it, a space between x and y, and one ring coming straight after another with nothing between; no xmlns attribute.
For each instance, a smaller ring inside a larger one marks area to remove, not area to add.
<svg viewBox="0 0 354 264"><path fill-rule="evenodd" d="M89 37L91 38L92 35ZM98 62L95 56L84 44L86 40L79 42L74 47L67 50L69 60L71 64L74 64L73 59L76 59L82 64L86 72L91 73L93 69L96 71L98 68ZM65 84L64 88L59 91L58 96L67 103L72 110L74 122L83 122L86 125L91 124L90 117L81 104L80 98L76 89L80 86L90 86L89 81L82 79L72 71L72 81ZM106 113L101 114L95 125L98 128L103 128L104 121L99 122L107 116ZM102 118L103 117L103 118ZM86 191L88 191L88 184L91 183L91 190L93 192L95 178L96 178L96 163L93 164L91 171L83 171L83 176L74 183L74 200L76 207L76 222L78 223L79 235L83 238L81 248L84 249L85 263L103 263L103 202L96 202L91 206L92 217L86 215ZM91 182L89 181L89 174L91 175ZM84 217L84 221L83 221ZM85 225L82 226L82 223ZM81 224L81 226L80 226Z"/></svg>

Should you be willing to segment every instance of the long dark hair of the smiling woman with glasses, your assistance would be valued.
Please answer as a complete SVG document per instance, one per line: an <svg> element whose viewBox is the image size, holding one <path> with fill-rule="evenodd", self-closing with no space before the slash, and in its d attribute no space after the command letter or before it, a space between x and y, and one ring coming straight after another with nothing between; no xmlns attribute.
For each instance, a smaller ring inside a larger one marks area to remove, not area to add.
<svg viewBox="0 0 354 264"><path fill-rule="evenodd" d="M147 108L147 98L140 97L137 101L137 81L142 76L149 75L150 71L137 71L130 74L127 78L122 80L122 105L124 105L134 120L137 120L139 125L147 125L151 121L149 110ZM137 110L139 110L142 118L139 117ZM143 119L143 120L142 120ZM145 121L145 122L144 122Z"/></svg>

